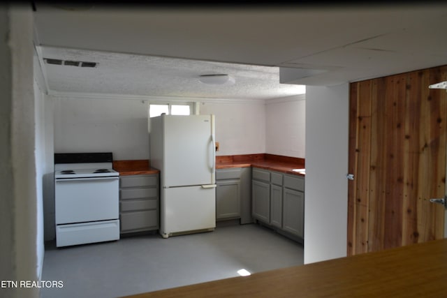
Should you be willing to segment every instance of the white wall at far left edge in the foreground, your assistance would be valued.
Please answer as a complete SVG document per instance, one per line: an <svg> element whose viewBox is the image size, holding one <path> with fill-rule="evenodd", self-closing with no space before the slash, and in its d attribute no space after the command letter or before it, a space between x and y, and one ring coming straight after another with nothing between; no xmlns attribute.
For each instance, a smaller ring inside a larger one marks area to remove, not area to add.
<svg viewBox="0 0 447 298"><path fill-rule="evenodd" d="M33 15L29 5L12 4L1 6L0 15L0 279L38 281L43 232L36 188ZM38 288L0 290L1 297L39 296Z"/></svg>

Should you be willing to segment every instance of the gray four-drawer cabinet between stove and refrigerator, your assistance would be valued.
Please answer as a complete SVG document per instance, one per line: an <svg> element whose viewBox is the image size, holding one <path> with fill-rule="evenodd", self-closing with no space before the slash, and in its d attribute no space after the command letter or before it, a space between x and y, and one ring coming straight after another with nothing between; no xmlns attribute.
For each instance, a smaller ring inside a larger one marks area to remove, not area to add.
<svg viewBox="0 0 447 298"><path fill-rule="evenodd" d="M159 229L159 174L119 177L120 233Z"/></svg>

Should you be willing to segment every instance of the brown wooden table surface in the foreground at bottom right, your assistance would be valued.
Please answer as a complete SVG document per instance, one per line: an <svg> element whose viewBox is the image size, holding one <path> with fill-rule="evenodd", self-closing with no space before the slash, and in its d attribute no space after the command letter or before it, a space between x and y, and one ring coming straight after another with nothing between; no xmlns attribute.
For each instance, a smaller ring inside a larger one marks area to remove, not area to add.
<svg viewBox="0 0 447 298"><path fill-rule="evenodd" d="M447 239L128 297L447 297Z"/></svg>

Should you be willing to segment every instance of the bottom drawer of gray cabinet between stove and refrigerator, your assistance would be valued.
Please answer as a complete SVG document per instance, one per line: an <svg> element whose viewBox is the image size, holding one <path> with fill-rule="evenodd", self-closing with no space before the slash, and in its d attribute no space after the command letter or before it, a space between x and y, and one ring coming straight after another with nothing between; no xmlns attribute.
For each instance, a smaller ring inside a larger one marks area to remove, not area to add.
<svg viewBox="0 0 447 298"><path fill-rule="evenodd" d="M156 210L124 213L121 214L121 231L158 228L158 219Z"/></svg>

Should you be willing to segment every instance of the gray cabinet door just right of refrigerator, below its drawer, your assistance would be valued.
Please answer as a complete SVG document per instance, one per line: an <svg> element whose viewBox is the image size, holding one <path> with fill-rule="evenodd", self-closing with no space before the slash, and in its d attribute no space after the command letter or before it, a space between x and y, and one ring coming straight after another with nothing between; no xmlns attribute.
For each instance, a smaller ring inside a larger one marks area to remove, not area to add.
<svg viewBox="0 0 447 298"><path fill-rule="evenodd" d="M216 219L240 217L240 180L217 181Z"/></svg>

